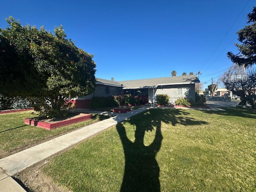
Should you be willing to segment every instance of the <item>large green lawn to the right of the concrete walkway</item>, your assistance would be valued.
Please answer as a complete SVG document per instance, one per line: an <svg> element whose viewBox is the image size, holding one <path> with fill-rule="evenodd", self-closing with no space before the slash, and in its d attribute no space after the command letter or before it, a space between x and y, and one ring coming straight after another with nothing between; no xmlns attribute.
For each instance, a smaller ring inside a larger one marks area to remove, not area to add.
<svg viewBox="0 0 256 192"><path fill-rule="evenodd" d="M150 109L43 171L74 192L256 191L256 111Z"/></svg>

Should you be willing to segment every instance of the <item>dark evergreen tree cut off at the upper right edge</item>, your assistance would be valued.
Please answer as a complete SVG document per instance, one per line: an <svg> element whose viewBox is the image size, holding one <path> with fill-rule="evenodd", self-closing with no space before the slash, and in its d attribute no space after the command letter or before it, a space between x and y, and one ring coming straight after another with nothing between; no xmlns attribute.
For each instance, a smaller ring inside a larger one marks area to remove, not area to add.
<svg viewBox="0 0 256 192"><path fill-rule="evenodd" d="M239 53L228 52L228 58L233 63L244 65L245 67L256 64L256 7L248 14L248 24L237 32L238 40L241 44L236 44Z"/></svg>

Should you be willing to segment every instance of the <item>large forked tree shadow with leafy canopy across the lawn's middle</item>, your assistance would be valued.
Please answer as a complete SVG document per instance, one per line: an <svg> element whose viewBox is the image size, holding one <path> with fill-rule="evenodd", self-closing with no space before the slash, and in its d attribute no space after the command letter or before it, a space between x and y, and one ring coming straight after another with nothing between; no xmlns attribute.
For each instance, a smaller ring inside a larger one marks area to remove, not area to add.
<svg viewBox="0 0 256 192"><path fill-rule="evenodd" d="M130 120L119 123L116 126L122 141L125 168L120 192L160 192L159 172L156 154L162 144L162 122L166 124L200 125L208 124L204 121L194 120L190 113L180 109L151 109L143 114L138 114ZM125 124L135 126L135 140L132 142L125 129ZM144 145L146 131L156 129L153 142L149 146Z"/></svg>

